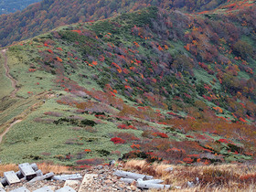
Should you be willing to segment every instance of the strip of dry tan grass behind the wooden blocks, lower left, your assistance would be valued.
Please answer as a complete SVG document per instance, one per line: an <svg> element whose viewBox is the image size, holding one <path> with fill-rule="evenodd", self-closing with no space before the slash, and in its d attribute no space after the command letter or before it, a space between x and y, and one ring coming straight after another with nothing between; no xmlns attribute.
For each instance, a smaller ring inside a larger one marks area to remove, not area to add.
<svg viewBox="0 0 256 192"><path fill-rule="evenodd" d="M55 174L65 174L71 173L69 170L69 166L64 165L51 165L48 163L38 163L38 168L42 170L44 174L48 172L53 172ZM18 171L18 165L16 164L8 164L8 165L0 165L0 176L4 176L4 172L6 171Z"/></svg>

